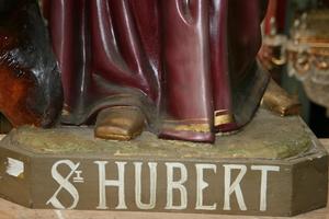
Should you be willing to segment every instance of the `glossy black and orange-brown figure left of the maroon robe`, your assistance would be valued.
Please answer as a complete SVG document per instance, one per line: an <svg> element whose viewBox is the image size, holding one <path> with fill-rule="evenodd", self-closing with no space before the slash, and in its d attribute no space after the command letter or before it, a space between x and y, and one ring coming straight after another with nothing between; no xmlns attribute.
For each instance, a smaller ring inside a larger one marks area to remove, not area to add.
<svg viewBox="0 0 329 219"><path fill-rule="evenodd" d="M50 127L61 105L60 76L32 1L0 1L0 108L13 127Z"/></svg>

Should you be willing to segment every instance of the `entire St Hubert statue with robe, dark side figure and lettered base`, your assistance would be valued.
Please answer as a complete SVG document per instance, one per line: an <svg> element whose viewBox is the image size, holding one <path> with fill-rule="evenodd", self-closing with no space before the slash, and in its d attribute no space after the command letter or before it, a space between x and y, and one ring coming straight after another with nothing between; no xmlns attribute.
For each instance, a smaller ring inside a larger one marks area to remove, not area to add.
<svg viewBox="0 0 329 219"><path fill-rule="evenodd" d="M42 2L52 43L37 1L0 0L0 111L37 126L0 141L0 197L257 216L326 206L328 155L307 126L263 108L251 120L269 83L256 61L266 1ZM294 113L268 90L263 103ZM95 127L53 126L60 112Z"/></svg>

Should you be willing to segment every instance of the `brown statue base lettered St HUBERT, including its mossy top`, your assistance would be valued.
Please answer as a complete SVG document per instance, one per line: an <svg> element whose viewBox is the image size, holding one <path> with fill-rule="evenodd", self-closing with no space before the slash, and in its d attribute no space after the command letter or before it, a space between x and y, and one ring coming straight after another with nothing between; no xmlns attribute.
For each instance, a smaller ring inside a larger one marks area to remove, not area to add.
<svg viewBox="0 0 329 219"><path fill-rule="evenodd" d="M215 145L23 127L0 142L0 195L30 208L294 216L327 204L328 155L298 117L260 110Z"/></svg>

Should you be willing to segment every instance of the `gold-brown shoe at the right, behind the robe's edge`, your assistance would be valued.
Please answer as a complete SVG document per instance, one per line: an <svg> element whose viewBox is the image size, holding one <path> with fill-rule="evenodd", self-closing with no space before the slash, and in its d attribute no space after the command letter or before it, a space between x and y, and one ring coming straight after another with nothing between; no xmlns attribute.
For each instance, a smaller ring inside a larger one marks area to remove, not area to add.
<svg viewBox="0 0 329 219"><path fill-rule="evenodd" d="M279 113L281 116L298 115L300 110L297 97L291 96L272 79L264 93L262 106Z"/></svg>

